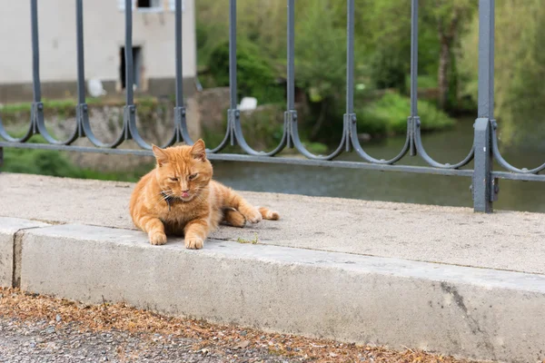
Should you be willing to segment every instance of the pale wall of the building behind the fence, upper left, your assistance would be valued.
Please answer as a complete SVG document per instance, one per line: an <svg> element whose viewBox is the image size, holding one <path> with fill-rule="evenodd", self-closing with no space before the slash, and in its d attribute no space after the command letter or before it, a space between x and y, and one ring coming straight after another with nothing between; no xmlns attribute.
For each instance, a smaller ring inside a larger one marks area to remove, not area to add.
<svg viewBox="0 0 545 363"><path fill-rule="evenodd" d="M193 0L183 1L183 76L191 88L188 80L196 74L194 6ZM163 13L133 13L133 45L142 47L144 92L173 92L175 19L169 3L164 0ZM76 81L75 1L38 0L38 22L44 96L70 96ZM108 93L121 92L123 46L124 12L119 1L84 0L85 79L99 78ZM29 91L32 94L29 0L6 2L0 11L0 54L0 102L27 98Z"/></svg>

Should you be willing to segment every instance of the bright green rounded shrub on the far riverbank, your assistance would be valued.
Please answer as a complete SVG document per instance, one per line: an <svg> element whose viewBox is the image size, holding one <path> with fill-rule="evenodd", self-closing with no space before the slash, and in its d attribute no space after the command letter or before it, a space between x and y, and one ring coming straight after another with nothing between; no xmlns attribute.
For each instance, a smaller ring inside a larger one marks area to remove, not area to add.
<svg viewBox="0 0 545 363"><path fill-rule="evenodd" d="M425 101L418 102L422 131L435 131L451 127L454 120L437 107ZM386 93L376 102L358 110L358 128L371 134L401 134L407 130L411 115L411 99L399 93Z"/></svg>

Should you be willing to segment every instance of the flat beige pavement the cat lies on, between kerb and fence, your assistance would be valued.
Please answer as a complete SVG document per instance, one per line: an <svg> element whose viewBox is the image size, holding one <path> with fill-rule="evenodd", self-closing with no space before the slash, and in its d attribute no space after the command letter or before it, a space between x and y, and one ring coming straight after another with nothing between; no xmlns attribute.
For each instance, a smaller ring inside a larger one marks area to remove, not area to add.
<svg viewBox="0 0 545 363"><path fill-rule="evenodd" d="M0 173L0 216L134 229L134 184ZM341 251L545 273L545 214L497 212L377 201L243 192L281 213L255 228L223 227L217 240Z"/></svg>

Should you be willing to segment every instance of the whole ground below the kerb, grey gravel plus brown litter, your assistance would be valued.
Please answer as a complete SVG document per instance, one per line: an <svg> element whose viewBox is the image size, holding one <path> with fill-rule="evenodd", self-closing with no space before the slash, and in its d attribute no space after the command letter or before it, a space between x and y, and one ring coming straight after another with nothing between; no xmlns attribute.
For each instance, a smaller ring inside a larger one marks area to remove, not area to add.
<svg viewBox="0 0 545 363"><path fill-rule="evenodd" d="M2 362L469 363L0 288Z"/></svg>

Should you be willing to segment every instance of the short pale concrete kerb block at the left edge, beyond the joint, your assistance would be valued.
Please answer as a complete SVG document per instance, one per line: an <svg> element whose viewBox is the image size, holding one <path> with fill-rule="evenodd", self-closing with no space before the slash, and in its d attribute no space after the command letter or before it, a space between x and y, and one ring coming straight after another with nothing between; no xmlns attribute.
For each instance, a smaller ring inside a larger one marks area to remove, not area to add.
<svg viewBox="0 0 545 363"><path fill-rule="evenodd" d="M18 218L0 217L0 286L11 288L16 285L15 258L20 258L18 248L20 247L21 231L45 227L48 224L39 221L20 220Z"/></svg>

